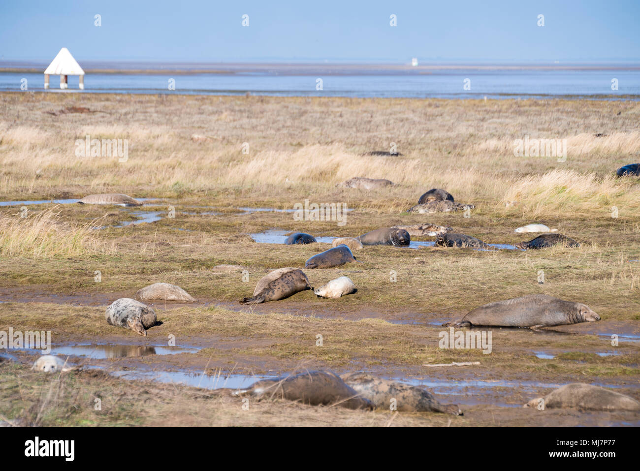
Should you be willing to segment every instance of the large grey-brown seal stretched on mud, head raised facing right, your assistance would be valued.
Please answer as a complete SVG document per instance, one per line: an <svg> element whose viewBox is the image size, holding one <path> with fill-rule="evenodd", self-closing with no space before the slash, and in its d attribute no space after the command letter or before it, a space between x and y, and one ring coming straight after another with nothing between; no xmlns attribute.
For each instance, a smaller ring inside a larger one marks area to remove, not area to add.
<svg viewBox="0 0 640 471"><path fill-rule="evenodd" d="M540 328L597 321L600 316L582 303L563 301L547 294L527 294L485 304L468 312L460 321L442 325Z"/></svg>

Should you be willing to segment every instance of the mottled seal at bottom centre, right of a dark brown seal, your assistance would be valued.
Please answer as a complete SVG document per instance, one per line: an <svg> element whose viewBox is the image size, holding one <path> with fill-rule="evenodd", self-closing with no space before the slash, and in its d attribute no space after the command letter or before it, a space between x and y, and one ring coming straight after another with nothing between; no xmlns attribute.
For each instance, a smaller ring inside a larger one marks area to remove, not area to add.
<svg viewBox="0 0 640 471"><path fill-rule="evenodd" d="M415 386L374 378L363 372L347 373L340 376L360 397L369 399L378 409L389 408L390 400L396 399L396 407L401 412L442 412L463 415L456 404L440 404L429 391Z"/></svg>

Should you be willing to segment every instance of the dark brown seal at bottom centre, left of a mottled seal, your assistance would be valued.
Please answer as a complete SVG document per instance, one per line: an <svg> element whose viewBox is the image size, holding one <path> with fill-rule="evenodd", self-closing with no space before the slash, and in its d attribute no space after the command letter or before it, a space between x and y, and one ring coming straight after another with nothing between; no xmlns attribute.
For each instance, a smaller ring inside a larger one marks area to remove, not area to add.
<svg viewBox="0 0 640 471"><path fill-rule="evenodd" d="M358 396L337 374L325 371L308 371L295 376L262 379L249 388L237 390L234 395L287 399L311 406L337 404L348 409L373 408L371 402Z"/></svg>

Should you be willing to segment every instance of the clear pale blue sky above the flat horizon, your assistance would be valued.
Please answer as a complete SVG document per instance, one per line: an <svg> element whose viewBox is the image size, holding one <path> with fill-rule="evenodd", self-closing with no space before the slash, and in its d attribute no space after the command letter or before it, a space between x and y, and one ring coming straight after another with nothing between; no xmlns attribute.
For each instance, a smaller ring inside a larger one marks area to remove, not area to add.
<svg viewBox="0 0 640 471"><path fill-rule="evenodd" d="M79 61L637 61L640 0L1 0L1 60L61 47Z"/></svg>

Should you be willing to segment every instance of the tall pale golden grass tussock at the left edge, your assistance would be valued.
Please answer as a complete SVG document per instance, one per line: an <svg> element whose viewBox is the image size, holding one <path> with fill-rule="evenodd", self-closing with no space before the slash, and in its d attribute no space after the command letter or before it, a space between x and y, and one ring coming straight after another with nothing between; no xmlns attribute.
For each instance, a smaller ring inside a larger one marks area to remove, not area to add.
<svg viewBox="0 0 640 471"><path fill-rule="evenodd" d="M60 217L58 206L25 218L20 212L0 216L0 253L36 258L75 257L109 251L93 229L97 221L74 223Z"/></svg>

